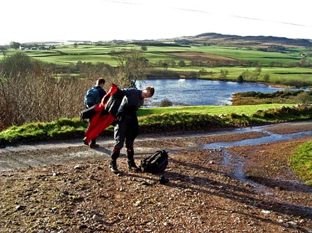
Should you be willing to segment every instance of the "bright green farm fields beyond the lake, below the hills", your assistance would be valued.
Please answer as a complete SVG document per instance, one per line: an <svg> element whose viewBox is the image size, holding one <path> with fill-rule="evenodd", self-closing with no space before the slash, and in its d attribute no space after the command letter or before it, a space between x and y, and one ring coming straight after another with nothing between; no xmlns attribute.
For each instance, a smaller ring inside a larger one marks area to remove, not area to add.
<svg viewBox="0 0 312 233"><path fill-rule="evenodd" d="M141 46L131 44L105 44L105 45L78 45L77 48L73 45L55 46L53 50L13 50L8 49L7 55L12 55L17 52L26 53L28 56L35 59L40 59L43 62L53 64L69 65L77 62L91 62L96 64L103 62L111 66L117 66L115 59L110 55L112 50L119 52L123 49L140 49ZM248 62L256 62L261 64L261 76L259 81L263 80L263 75L270 76L270 82L280 82L282 80L312 80L312 69L310 67L270 67L272 62L284 62L286 64L294 64L300 62L301 54L309 54L310 51L304 48L286 48L283 53L263 52L254 48L237 48L230 46L146 46L147 50L144 56L150 64L156 66L159 62L168 60L174 61L176 64L183 60L187 66L168 67L170 71L178 72L198 72L205 70L209 75L202 75L202 78L218 79L220 71L227 71L227 79L236 80L244 71L254 71L253 66L189 66L190 60L186 57L178 55L169 55L168 53L200 53L221 55L233 59L239 59ZM1 56L0 56L1 57ZM2 55L3 57L3 55ZM306 57L312 62L311 57Z"/></svg>

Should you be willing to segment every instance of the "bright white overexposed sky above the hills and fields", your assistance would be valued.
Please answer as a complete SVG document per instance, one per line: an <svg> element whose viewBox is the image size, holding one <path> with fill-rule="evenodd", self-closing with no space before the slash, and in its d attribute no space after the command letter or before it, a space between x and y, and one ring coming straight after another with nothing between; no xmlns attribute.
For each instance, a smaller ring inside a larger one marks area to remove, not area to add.
<svg viewBox="0 0 312 233"><path fill-rule="evenodd" d="M312 39L310 0L2 0L11 41L168 39L224 35Z"/></svg>

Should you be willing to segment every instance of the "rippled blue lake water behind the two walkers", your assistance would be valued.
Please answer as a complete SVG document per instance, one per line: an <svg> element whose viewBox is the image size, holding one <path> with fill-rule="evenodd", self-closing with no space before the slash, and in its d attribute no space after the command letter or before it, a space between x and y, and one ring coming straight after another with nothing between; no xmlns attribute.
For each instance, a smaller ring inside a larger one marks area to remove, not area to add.
<svg viewBox="0 0 312 233"><path fill-rule="evenodd" d="M284 88L272 88L263 84L223 82L210 80L146 80L138 88L154 86L155 95L150 102L169 100L189 105L231 105L233 93L260 91L272 93Z"/></svg>

